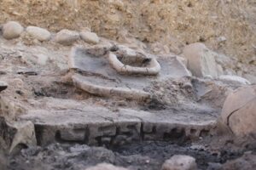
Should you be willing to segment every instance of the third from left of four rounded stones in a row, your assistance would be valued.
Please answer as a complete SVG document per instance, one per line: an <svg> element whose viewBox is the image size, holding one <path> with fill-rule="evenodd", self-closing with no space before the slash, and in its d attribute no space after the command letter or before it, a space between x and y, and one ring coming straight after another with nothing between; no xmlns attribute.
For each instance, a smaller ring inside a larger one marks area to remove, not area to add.
<svg viewBox="0 0 256 170"><path fill-rule="evenodd" d="M56 34L55 42L61 43L62 45L72 45L73 42L79 40L79 33L76 31L61 30Z"/></svg>

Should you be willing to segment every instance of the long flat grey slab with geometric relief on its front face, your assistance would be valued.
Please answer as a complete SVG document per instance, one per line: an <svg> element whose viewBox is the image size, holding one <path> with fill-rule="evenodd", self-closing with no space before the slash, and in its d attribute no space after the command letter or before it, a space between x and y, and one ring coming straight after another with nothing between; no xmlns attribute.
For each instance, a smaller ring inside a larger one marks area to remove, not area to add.
<svg viewBox="0 0 256 170"><path fill-rule="evenodd" d="M44 106L28 111L20 119L35 123L38 144L43 145L53 141L123 144L142 139L168 139L172 133L177 134L177 138L198 138L201 132L209 133L215 126L215 118L207 114L131 109L111 111L72 99L44 99L41 102Z"/></svg>

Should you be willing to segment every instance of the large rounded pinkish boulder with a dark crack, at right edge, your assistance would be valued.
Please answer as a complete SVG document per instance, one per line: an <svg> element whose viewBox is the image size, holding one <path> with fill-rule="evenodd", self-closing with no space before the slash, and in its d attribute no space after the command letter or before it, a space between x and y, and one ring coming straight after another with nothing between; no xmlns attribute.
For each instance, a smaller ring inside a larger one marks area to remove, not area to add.
<svg viewBox="0 0 256 170"><path fill-rule="evenodd" d="M242 87L224 102L220 121L236 136L256 134L256 86Z"/></svg>

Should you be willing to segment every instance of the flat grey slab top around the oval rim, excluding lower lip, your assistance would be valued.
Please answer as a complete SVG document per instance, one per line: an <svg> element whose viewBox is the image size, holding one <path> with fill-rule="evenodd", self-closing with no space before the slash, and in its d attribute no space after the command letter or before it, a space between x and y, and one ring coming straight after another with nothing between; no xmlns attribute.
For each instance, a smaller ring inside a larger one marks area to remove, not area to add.
<svg viewBox="0 0 256 170"><path fill-rule="evenodd" d="M84 48L73 48L69 60L70 69L83 72L86 75L84 79L87 81L92 84L113 88L126 87L143 90L154 81L190 76L189 71L176 57L158 59L161 71L157 77L120 75L109 65L107 56L88 54Z"/></svg>

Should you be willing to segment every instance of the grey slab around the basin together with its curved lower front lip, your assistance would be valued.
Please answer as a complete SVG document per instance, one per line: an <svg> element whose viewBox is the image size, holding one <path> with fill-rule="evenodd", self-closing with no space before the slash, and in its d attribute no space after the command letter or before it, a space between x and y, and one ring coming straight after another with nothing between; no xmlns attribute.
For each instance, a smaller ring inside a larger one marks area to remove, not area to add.
<svg viewBox="0 0 256 170"><path fill-rule="evenodd" d="M69 56L70 70L87 75L86 77L80 76L80 80L73 77L73 81L76 85L80 85L79 88L84 87L83 89L91 94L103 96L117 95L119 97L123 96L126 99L145 99L148 98L149 94L144 91L144 88L150 86L151 82L190 76L190 72L186 69L185 65L177 57L170 56L158 59L161 70L157 77L120 75L109 64L107 57L96 56L92 54L94 52L95 50L91 49L73 48Z"/></svg>

